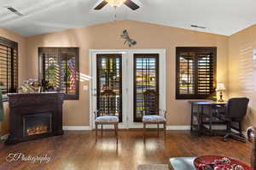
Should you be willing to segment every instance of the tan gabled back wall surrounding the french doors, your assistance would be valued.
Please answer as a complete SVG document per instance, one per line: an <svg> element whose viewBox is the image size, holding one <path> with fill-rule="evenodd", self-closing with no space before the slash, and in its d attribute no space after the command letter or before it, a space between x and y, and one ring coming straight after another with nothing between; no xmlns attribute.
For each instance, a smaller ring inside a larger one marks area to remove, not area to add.
<svg viewBox="0 0 256 170"><path fill-rule="evenodd" d="M118 21L98 26L82 27L28 37L27 76L38 77L38 47L79 47L80 72L89 75L89 49L127 48L120 38L127 29L137 40L135 48L166 48L166 104L169 125L189 125L190 105L187 100L175 100L175 48L177 46L217 46L218 82L228 83L228 37L188 31L169 26L158 26L133 20ZM80 82L80 99L66 101L64 125L89 125L89 91Z"/></svg>

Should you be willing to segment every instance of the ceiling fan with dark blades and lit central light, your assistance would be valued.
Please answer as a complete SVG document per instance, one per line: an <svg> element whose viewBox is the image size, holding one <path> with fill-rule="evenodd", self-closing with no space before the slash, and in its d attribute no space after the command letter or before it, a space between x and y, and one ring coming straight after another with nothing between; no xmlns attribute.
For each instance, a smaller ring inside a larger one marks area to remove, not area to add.
<svg viewBox="0 0 256 170"><path fill-rule="evenodd" d="M119 7L122 3L124 3L127 7L131 8L132 10L140 8L136 3L133 3L131 0L103 0L102 3L98 4L94 9L100 10L103 7L105 7L108 3L113 7Z"/></svg>

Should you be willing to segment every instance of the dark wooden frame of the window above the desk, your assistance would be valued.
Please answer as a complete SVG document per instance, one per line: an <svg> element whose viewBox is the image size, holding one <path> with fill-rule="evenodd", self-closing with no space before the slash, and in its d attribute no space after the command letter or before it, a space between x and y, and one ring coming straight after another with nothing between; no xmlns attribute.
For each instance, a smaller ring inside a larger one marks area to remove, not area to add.
<svg viewBox="0 0 256 170"><path fill-rule="evenodd" d="M195 94L180 94L180 53L195 53L194 62L194 81L195 81ZM198 54L199 53L212 53L213 57L213 89L216 88L216 73L217 73L217 47L176 47L176 99L212 99L216 92L212 94L198 94Z"/></svg>

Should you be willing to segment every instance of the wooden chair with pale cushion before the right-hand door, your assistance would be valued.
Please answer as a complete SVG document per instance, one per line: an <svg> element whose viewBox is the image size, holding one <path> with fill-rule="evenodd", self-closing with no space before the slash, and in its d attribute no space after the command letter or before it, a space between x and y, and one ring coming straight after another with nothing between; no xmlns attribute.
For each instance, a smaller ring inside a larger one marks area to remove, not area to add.
<svg viewBox="0 0 256 170"><path fill-rule="evenodd" d="M143 139L145 141L145 131L147 124L157 125L157 134L159 136L159 125L164 126L164 133L166 137L166 111L159 110L158 94L155 90L147 90L143 94L144 110L143 115Z"/></svg>

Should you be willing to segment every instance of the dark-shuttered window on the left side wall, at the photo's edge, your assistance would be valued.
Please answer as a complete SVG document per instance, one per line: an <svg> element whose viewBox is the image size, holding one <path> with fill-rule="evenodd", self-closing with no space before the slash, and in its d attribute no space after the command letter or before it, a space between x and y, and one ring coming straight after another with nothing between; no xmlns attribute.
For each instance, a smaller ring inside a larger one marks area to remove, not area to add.
<svg viewBox="0 0 256 170"><path fill-rule="evenodd" d="M0 89L3 94L18 88L18 43L0 37Z"/></svg>

